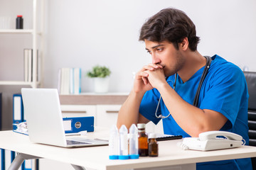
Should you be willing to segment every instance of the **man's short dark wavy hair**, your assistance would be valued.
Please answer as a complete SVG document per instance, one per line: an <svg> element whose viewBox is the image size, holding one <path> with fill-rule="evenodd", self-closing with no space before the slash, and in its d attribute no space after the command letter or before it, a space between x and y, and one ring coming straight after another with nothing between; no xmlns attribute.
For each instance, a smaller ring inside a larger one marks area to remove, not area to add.
<svg viewBox="0 0 256 170"><path fill-rule="evenodd" d="M188 38L188 47L192 51L197 50L200 40L196 36L196 26L191 19L181 10L165 8L154 16L151 16L142 26L139 40L163 42L167 40L174 44L178 50L178 43Z"/></svg>

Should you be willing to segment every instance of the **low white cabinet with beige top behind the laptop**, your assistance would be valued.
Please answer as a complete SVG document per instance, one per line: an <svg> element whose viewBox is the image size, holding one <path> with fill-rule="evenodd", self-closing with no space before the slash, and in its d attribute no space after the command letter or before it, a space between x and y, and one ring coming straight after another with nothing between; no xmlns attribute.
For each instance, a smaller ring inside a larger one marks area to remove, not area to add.
<svg viewBox="0 0 256 170"><path fill-rule="evenodd" d="M60 95L63 117L95 116L95 126L110 128L128 93Z"/></svg>

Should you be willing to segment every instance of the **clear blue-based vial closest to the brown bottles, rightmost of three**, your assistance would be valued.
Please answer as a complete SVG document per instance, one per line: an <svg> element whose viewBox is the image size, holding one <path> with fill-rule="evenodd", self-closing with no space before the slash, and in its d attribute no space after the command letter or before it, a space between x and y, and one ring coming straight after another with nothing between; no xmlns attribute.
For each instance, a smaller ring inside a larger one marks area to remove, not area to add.
<svg viewBox="0 0 256 170"><path fill-rule="evenodd" d="M135 124L132 124L129 128L129 157L130 159L139 158L138 150L138 128Z"/></svg>

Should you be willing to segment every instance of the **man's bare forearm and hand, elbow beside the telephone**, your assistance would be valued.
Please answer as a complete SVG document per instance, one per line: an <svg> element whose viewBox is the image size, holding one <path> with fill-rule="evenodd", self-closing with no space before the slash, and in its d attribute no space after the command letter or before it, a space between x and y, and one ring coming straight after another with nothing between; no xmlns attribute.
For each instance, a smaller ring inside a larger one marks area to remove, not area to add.
<svg viewBox="0 0 256 170"><path fill-rule="evenodd" d="M161 69L146 71L149 74L149 83L156 88L163 101L178 125L192 137L198 137L201 132L220 130L228 118L217 111L197 108L181 98L169 86Z"/></svg>

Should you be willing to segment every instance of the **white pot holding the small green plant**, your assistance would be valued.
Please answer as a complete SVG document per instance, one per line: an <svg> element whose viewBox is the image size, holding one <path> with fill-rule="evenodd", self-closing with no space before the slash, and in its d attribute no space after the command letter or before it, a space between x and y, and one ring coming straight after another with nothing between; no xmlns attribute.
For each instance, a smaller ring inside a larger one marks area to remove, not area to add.
<svg viewBox="0 0 256 170"><path fill-rule="evenodd" d="M95 93L107 93L110 84L110 77L95 77L93 78Z"/></svg>

